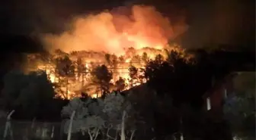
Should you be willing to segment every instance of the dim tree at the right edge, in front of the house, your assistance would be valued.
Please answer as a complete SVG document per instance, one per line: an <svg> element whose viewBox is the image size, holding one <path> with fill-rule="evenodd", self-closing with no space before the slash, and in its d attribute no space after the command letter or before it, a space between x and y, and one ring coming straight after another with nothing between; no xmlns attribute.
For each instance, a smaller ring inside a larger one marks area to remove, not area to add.
<svg viewBox="0 0 256 140"><path fill-rule="evenodd" d="M242 73L234 79L235 92L224 104L224 114L233 134L238 138L254 139L256 126L255 74Z"/></svg>

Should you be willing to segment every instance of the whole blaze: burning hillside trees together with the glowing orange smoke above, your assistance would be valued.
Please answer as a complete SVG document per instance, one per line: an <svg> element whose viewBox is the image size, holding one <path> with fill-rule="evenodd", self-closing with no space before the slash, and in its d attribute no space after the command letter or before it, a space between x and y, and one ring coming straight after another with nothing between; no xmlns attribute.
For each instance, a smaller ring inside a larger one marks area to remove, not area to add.
<svg viewBox="0 0 256 140"><path fill-rule="evenodd" d="M46 70L62 98L72 98L81 92L92 96L101 93L102 87L94 82L93 73L108 75L102 65L110 72L107 90L129 89L146 82L141 69L147 61L158 54L165 58L165 49L182 51L177 45L168 45L168 40L186 29L183 20L171 25L155 8L140 5L76 17L71 30L59 36L42 36L50 54L30 55L28 70ZM102 67L97 71L99 66Z"/></svg>

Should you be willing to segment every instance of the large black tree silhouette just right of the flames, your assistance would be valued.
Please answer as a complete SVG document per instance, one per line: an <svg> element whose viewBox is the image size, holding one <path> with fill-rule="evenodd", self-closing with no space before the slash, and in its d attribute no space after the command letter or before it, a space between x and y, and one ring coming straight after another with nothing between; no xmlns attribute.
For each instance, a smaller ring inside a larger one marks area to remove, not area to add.
<svg viewBox="0 0 256 140"><path fill-rule="evenodd" d="M171 97L175 106L186 103L200 108L203 104L201 97L210 88L213 73L199 62L171 51L167 60L158 55L149 61L145 76L149 86L156 89L158 95Z"/></svg>

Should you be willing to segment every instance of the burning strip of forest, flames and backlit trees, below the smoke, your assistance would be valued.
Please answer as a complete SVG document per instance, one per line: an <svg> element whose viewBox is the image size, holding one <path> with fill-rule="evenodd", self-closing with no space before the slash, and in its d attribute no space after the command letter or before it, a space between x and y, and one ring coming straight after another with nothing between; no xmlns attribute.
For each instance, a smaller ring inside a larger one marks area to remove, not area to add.
<svg viewBox="0 0 256 140"><path fill-rule="evenodd" d="M125 55L120 56L94 51L73 51L69 54L56 51L55 54L47 56L30 54L28 55L27 64L29 66L27 69L29 71L46 71L48 78L54 84L57 95L61 98L73 98L79 96L81 92L96 97L95 93L101 93L98 84L93 82L91 76L96 67L105 65L112 74L110 91L117 89L122 91L146 82L141 70L147 61L155 59L158 54L165 58L165 53L165 50L155 48L140 50L130 48ZM66 65L69 65L69 68L63 74ZM123 79L123 82L120 79Z"/></svg>

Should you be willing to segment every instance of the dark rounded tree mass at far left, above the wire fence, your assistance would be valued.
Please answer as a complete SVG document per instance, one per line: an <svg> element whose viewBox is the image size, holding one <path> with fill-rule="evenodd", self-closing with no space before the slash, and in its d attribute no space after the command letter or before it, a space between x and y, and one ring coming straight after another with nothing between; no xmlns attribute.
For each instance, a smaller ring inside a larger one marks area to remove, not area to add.
<svg viewBox="0 0 256 140"><path fill-rule="evenodd" d="M59 109L65 101L54 99L54 95L53 84L43 71L28 74L11 71L4 77L2 109L7 112L15 110L13 117L18 119L58 120Z"/></svg>

